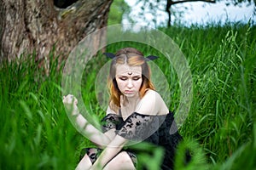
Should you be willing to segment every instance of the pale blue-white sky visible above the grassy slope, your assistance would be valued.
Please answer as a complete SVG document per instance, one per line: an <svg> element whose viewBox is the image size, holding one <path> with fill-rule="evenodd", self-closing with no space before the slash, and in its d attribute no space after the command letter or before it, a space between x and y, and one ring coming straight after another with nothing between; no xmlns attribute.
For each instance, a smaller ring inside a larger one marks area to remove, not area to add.
<svg viewBox="0 0 256 170"><path fill-rule="evenodd" d="M167 14L164 11L157 11L156 14L145 14L147 16L145 19L138 19L137 17L138 11L140 11L139 5L135 6L136 0L125 0L128 5L131 6L131 18L133 20L137 20L142 25L147 25L148 21L150 22L150 26L160 26L166 25L167 22ZM165 1L166 2L166 1ZM177 8L183 11L182 17L180 17L180 21L186 25L191 26L192 24L200 24L206 25L207 22L211 21L220 21L224 23L227 19L231 22L233 21L242 21L247 23L251 18L256 21L256 16L253 15L253 5L247 6L246 3L242 3L241 7L230 5L226 6L224 2L222 3L203 3L203 2L194 2L194 3L180 3L172 8ZM184 9L187 8L187 9ZM157 17L156 17L157 16ZM156 22L152 22L153 19L156 19ZM177 20L172 16L172 21ZM124 20L127 22L127 20Z"/></svg>

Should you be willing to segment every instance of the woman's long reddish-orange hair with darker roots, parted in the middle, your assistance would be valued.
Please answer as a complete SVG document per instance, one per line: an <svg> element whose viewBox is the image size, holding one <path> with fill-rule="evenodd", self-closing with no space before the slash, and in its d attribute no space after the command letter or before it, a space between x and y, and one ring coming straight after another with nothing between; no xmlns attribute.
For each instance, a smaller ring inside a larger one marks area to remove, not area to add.
<svg viewBox="0 0 256 170"><path fill-rule="evenodd" d="M113 111L118 112L120 107L120 92L115 79L116 65L142 66L142 85L139 90L140 98L143 98L148 89L154 90L154 85L150 80L151 72L143 53L136 48L122 48L113 58L108 75L108 90L110 94L109 106Z"/></svg>

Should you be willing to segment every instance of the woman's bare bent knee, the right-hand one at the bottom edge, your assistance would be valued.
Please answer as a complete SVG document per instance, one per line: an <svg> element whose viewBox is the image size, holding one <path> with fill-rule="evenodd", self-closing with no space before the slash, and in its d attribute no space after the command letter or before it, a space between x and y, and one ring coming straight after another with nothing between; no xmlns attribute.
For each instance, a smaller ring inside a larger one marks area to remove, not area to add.
<svg viewBox="0 0 256 170"><path fill-rule="evenodd" d="M136 169L131 157L125 151L121 151L117 156L113 157L111 161L103 168L104 170L132 170Z"/></svg>

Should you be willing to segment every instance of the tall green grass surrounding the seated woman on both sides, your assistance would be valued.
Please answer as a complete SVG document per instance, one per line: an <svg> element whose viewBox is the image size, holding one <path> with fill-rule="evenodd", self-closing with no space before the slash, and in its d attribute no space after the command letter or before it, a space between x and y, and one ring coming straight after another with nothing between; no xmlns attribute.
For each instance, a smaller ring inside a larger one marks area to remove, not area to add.
<svg viewBox="0 0 256 170"><path fill-rule="evenodd" d="M193 102L180 129L186 142L178 153L182 155L183 147L189 147L195 159L189 167L182 167L177 160L179 169L256 167L255 26L172 26L160 30L182 49L193 77ZM175 70L162 54L144 44L119 42L108 51L127 46L160 55L154 62L168 77L172 89L169 107L176 111L180 93ZM96 119L104 111L97 104L95 79L107 61L100 54L84 70L84 104ZM90 145L67 118L57 66L63 65L51 59L49 74L44 74L44 69L34 65L33 56L24 63L0 65L0 169L73 169L80 150Z"/></svg>

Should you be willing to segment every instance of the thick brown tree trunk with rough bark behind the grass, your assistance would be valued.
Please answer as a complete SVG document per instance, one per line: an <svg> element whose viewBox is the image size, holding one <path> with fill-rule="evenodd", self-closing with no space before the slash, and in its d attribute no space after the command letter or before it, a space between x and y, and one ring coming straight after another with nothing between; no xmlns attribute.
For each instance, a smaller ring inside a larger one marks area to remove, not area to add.
<svg viewBox="0 0 256 170"><path fill-rule="evenodd" d="M112 2L78 0L57 8L54 0L0 0L0 61L35 53L42 64L53 47L55 54L67 57L86 35L107 26ZM95 48L104 37L95 38Z"/></svg>

